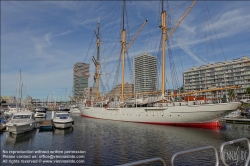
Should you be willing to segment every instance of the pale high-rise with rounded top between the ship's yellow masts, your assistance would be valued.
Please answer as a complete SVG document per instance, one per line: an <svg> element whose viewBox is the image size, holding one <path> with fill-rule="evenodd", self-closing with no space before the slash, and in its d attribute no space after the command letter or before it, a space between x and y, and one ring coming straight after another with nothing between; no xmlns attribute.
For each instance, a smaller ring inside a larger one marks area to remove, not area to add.
<svg viewBox="0 0 250 166"><path fill-rule="evenodd" d="M157 58L141 54L134 58L134 91L152 92L158 90Z"/></svg>

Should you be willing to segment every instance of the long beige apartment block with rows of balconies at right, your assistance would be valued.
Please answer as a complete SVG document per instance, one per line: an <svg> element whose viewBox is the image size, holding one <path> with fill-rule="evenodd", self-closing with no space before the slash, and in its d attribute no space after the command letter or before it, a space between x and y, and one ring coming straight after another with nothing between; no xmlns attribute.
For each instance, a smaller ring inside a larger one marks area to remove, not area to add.
<svg viewBox="0 0 250 166"><path fill-rule="evenodd" d="M185 92L241 85L235 90L237 97L245 95L246 88L250 87L250 58L218 62L215 64L193 67L183 73L183 87Z"/></svg>

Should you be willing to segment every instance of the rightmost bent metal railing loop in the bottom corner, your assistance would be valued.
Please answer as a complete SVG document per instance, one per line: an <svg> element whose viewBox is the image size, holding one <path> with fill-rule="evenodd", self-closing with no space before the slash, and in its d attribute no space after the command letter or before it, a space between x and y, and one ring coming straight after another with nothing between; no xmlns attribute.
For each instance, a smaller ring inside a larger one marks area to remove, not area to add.
<svg viewBox="0 0 250 166"><path fill-rule="evenodd" d="M236 142L241 142L241 141L247 141L247 145L248 145L248 157L246 159L245 166L248 166L249 161L250 161L250 142L249 142L249 140L247 138L240 138L240 139L236 139L236 140L233 140L233 141L224 142L223 144L221 144L221 146L220 146L221 160L222 160L222 162L223 162L223 164L225 166L228 166L228 164L225 161L225 155L224 155L224 151L223 151L224 146L231 145L231 144L234 144Z"/></svg>

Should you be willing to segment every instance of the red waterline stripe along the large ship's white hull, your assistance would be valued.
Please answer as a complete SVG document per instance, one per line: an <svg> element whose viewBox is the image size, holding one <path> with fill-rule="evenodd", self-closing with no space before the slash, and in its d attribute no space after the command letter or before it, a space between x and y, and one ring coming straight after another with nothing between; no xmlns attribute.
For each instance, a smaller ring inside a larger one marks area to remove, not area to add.
<svg viewBox="0 0 250 166"><path fill-rule="evenodd" d="M96 117L87 116L87 115L83 115L83 114L81 114L81 116L86 117L86 118L103 119L103 118L96 118ZM103 120L112 120L112 119L103 119ZM122 121L122 120L114 120L114 121ZM135 122L135 121L122 121L122 122ZM155 125L165 125L165 126L208 128L208 129L220 129L220 128L222 128L221 123L218 121L201 122L201 123L166 123L166 122L135 122L135 123L155 124Z"/></svg>

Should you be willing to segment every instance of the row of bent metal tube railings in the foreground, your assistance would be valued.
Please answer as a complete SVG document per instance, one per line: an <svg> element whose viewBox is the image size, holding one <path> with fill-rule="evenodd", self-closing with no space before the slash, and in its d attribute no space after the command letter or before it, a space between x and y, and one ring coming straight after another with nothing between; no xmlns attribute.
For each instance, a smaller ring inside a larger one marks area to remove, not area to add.
<svg viewBox="0 0 250 166"><path fill-rule="evenodd" d="M246 162L245 162L245 166L248 166L249 161L250 161L250 142L249 142L249 140L247 138L240 138L240 139L237 139L237 140L232 140L232 141L224 142L223 144L221 144L221 146L220 146L220 154L222 155L221 160L222 160L222 162L223 162L223 164L225 166L228 166L228 164L226 164L226 162L225 162L225 155L223 153L224 146L231 145L231 144L234 144L236 142L241 142L241 141L247 141L247 144L248 144L248 157L247 157ZM194 153L194 152L199 152L199 151L205 151L205 150L208 150L208 149L213 149L214 150L215 159L216 159L215 165L218 166L219 165L219 155L218 155L217 149L215 147L213 147L213 146L204 146L204 147L199 147L199 148L195 148L195 149L189 149L189 150L176 152L171 157L171 165L174 166L174 160L179 155ZM150 159L145 159L145 160L139 160L139 161L126 163L126 164L122 164L122 165L118 165L118 166L135 166L135 165L148 164L148 163L157 162L157 161L158 162L160 161L163 166L166 166L165 161L160 157L155 157L155 158L150 158Z"/></svg>

